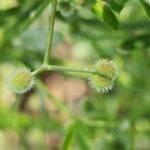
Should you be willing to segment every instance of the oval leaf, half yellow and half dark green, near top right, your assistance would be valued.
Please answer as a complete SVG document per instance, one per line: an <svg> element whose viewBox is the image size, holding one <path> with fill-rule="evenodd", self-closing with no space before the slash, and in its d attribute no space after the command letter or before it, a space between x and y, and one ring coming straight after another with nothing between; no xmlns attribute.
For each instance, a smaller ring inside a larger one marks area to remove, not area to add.
<svg viewBox="0 0 150 150"><path fill-rule="evenodd" d="M105 2L97 1L97 3L93 6L92 11L98 19L105 22L112 29L117 30L119 28L118 20L115 14Z"/></svg>

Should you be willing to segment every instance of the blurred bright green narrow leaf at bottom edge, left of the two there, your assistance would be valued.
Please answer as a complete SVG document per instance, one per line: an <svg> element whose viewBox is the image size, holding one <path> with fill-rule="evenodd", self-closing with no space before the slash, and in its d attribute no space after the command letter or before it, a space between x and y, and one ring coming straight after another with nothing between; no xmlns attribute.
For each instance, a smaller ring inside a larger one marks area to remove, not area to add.
<svg viewBox="0 0 150 150"><path fill-rule="evenodd" d="M73 122L68 127L67 133L64 138L64 142L62 144L62 150L71 150L72 149L71 145L72 145L72 142L74 139L75 131L76 131L76 122Z"/></svg>

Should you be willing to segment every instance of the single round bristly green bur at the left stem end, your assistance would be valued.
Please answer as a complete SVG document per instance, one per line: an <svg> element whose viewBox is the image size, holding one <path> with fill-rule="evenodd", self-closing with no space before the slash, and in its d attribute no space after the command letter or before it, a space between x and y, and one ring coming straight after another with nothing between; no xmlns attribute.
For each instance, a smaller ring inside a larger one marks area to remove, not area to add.
<svg viewBox="0 0 150 150"><path fill-rule="evenodd" d="M15 69L10 75L9 85L16 94L23 94L33 87L34 77L27 68Z"/></svg>

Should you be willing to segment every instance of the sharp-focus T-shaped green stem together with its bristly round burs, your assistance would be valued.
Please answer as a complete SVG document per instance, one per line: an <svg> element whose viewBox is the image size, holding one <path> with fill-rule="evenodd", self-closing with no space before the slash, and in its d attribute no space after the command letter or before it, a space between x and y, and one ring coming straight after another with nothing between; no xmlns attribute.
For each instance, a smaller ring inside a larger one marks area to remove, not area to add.
<svg viewBox="0 0 150 150"><path fill-rule="evenodd" d="M79 69L49 64L51 57L57 4L58 0L52 0L52 8L49 17L48 47L44 55L43 64L33 72L31 72L30 69L27 68L14 69L9 78L10 88L16 94L24 94L33 88L35 83L34 80L39 73L42 73L44 71L62 71L88 74L90 83L89 85L95 91L99 93L108 92L112 89L114 80L117 77L117 69L112 60L100 59L93 65L92 69ZM63 6L67 4L67 2L60 2L60 4Z"/></svg>

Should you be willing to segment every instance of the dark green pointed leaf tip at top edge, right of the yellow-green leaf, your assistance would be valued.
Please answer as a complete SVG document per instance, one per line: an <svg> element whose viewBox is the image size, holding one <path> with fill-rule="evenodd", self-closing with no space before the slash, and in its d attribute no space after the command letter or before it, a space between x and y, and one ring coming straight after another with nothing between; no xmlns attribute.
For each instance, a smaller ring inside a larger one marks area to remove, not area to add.
<svg viewBox="0 0 150 150"><path fill-rule="evenodd" d="M120 13L127 1L128 0L106 0L106 3L110 6L112 10Z"/></svg>

